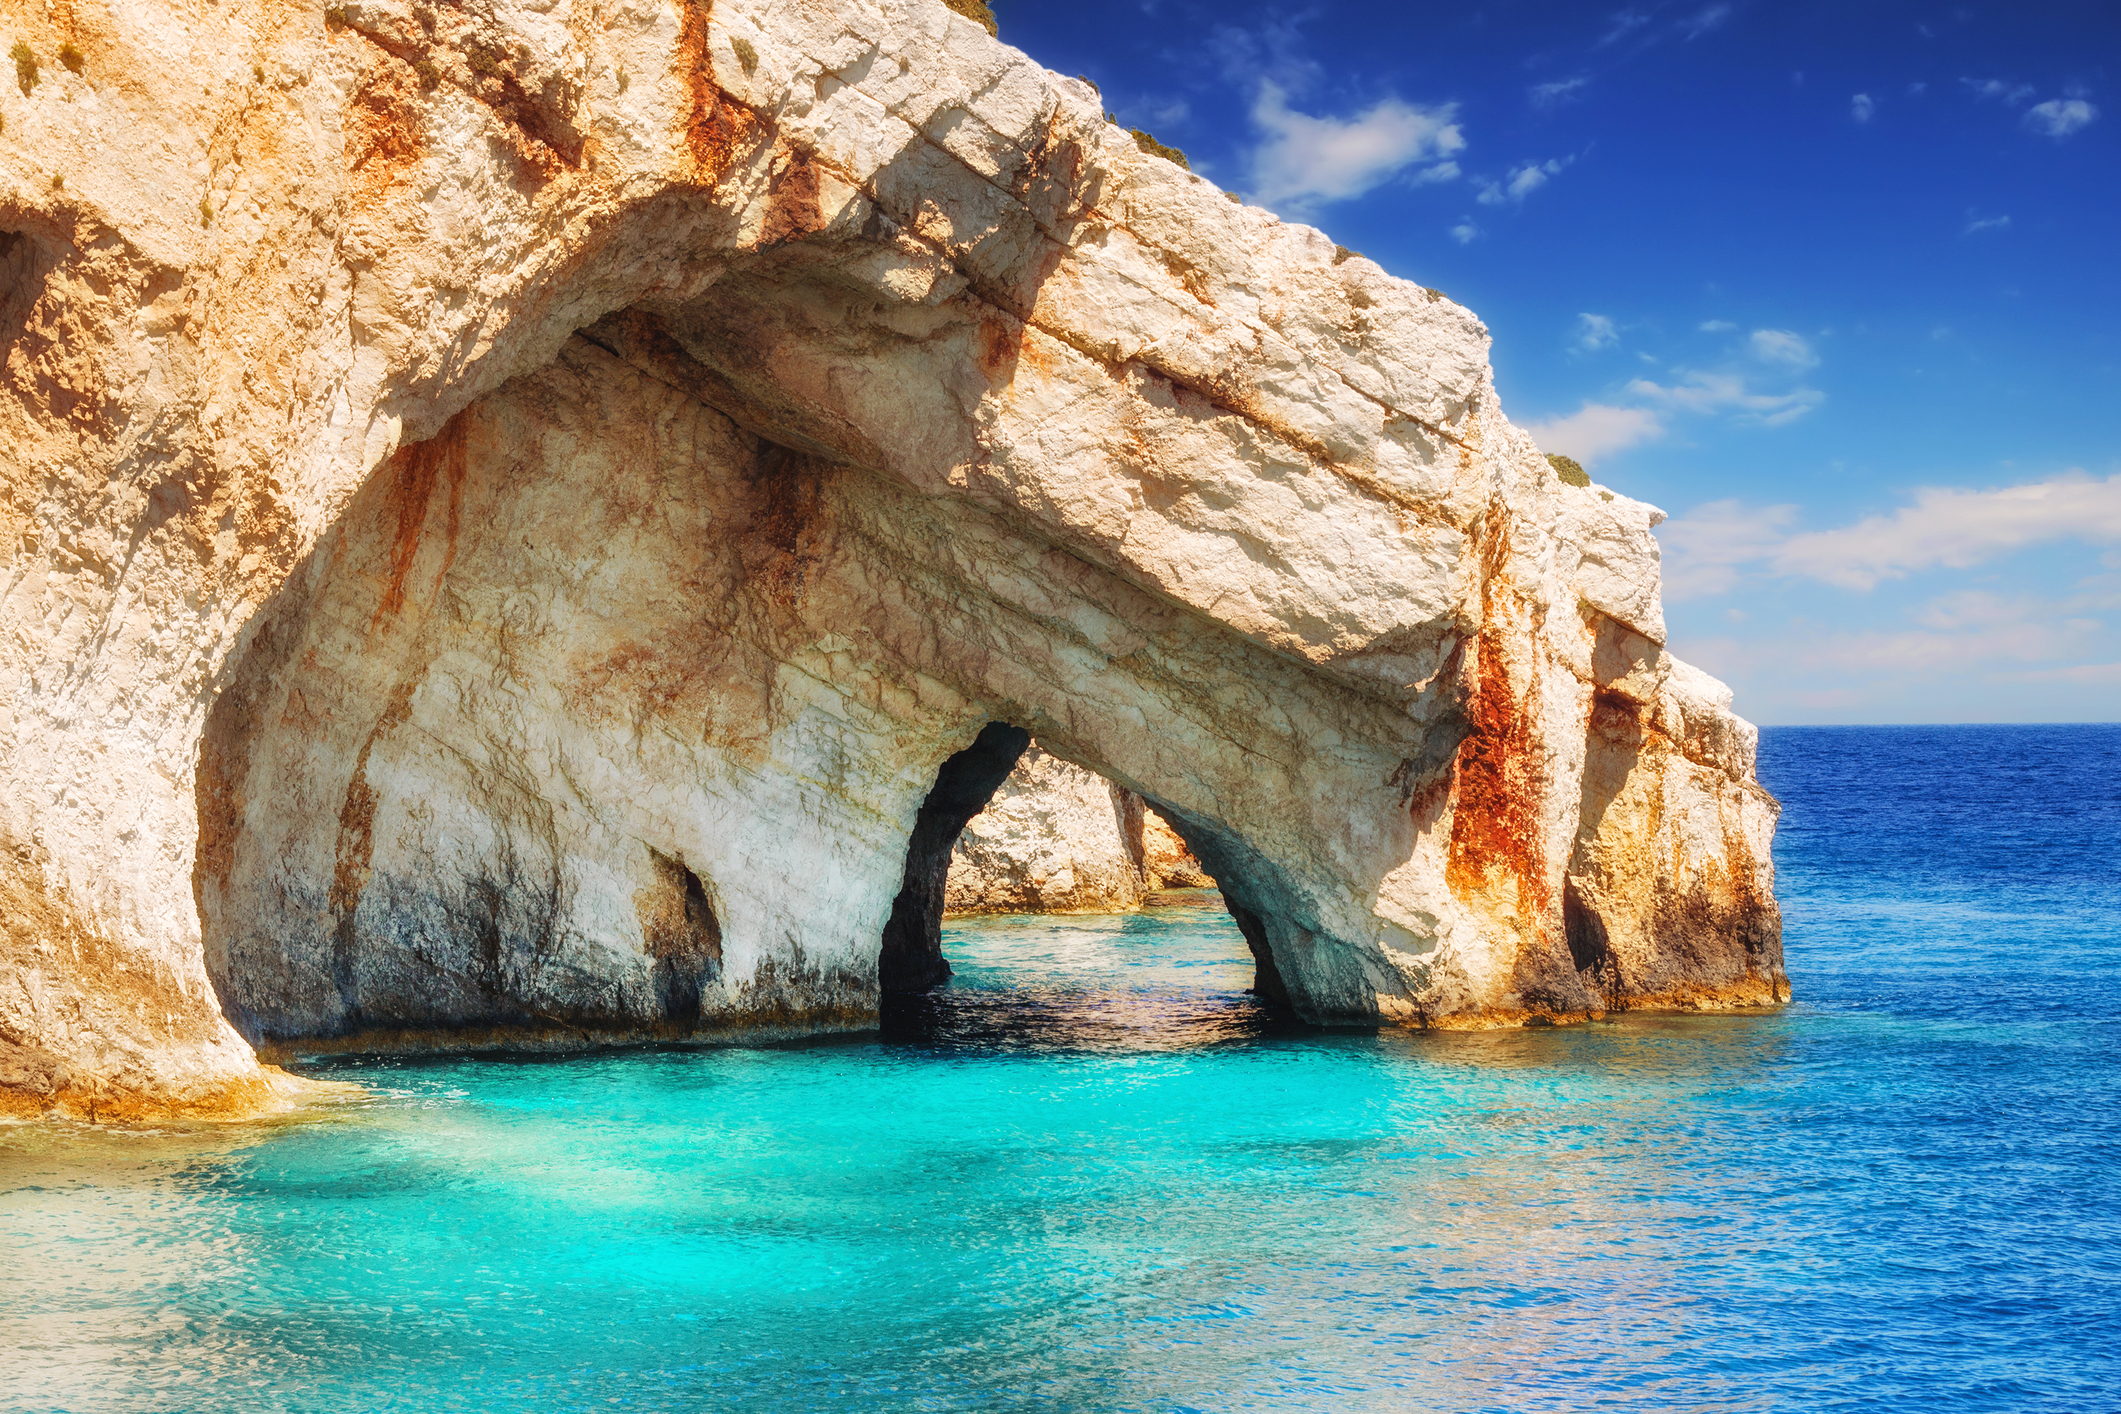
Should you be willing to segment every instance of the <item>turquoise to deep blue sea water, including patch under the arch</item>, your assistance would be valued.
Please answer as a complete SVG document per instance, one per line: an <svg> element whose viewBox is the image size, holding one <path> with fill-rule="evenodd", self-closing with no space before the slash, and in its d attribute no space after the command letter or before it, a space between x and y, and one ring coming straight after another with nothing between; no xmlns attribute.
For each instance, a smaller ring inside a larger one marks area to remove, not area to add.
<svg viewBox="0 0 2121 1414"><path fill-rule="evenodd" d="M1763 742L1796 1005L1268 1024L1217 909L887 1039L0 1130L0 1408L2121 1406L2121 727Z"/></svg>

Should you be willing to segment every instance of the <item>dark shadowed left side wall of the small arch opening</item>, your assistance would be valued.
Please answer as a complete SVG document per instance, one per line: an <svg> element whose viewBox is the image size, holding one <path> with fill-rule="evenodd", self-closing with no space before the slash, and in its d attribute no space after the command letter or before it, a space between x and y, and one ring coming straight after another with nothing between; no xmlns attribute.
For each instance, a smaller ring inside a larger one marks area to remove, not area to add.
<svg viewBox="0 0 2121 1414"><path fill-rule="evenodd" d="M891 901L876 979L884 996L912 996L950 979L942 956L942 903L950 878L950 850L971 816L986 810L1016 759L1031 744L1022 727L991 721L965 750L935 772L935 786L921 801L912 839L906 842L906 882Z"/></svg>

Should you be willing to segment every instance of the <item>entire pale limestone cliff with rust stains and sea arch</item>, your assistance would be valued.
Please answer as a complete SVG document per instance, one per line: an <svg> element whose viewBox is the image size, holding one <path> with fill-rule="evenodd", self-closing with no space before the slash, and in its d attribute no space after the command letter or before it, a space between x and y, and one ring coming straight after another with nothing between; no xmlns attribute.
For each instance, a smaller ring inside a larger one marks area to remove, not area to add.
<svg viewBox="0 0 2121 1414"><path fill-rule="evenodd" d="M8 15L21 1104L865 1026L988 723L1152 801L1302 1018L1786 992L1657 513L1470 312L944 4Z"/></svg>

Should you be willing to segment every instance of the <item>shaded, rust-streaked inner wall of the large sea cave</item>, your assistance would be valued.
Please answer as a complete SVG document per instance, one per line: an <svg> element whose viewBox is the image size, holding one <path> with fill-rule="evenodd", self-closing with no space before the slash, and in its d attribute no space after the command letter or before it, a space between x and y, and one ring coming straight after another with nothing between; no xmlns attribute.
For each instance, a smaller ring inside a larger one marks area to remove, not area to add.
<svg viewBox="0 0 2121 1414"><path fill-rule="evenodd" d="M607 348L634 324L592 333L392 454L257 615L197 774L193 892L238 1032L269 1056L874 1028L948 979L952 846L1033 733L1156 810L1287 1005L1292 880L1141 795L1188 763L1116 723L1300 674L984 509L789 452L668 339L641 335L651 375ZM1029 655L1075 653L1052 596L1145 625L1164 670L1044 678Z"/></svg>

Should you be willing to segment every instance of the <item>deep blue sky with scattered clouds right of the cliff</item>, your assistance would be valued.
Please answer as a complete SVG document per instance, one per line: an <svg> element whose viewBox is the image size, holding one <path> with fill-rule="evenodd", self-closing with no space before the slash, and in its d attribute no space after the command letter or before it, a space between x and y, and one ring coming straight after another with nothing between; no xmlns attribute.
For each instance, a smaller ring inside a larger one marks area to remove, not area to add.
<svg viewBox="0 0 2121 1414"><path fill-rule="evenodd" d="M995 13L1472 307L1739 712L2121 717L2121 4Z"/></svg>

